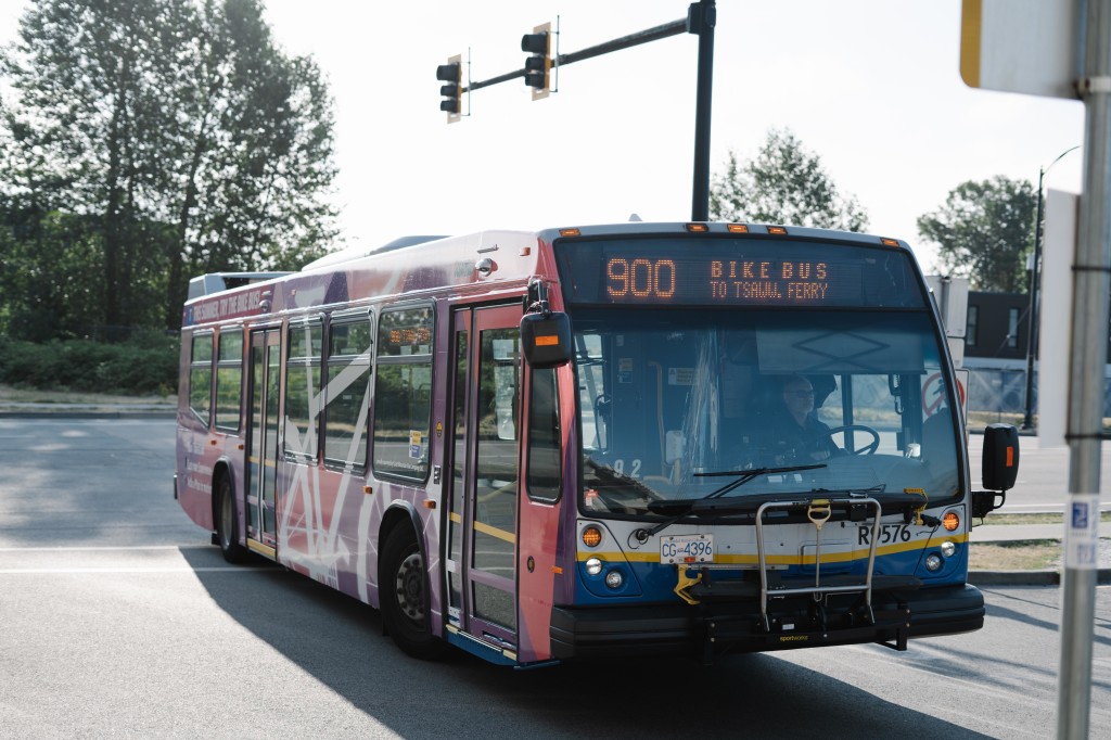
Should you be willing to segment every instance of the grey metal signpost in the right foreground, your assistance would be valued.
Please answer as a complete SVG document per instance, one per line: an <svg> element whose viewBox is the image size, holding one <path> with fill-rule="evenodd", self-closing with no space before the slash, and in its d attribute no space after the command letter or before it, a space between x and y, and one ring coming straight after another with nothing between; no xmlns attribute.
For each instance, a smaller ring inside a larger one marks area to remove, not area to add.
<svg viewBox="0 0 1111 740"><path fill-rule="evenodd" d="M1069 502L1061 587L1058 738L1087 738L1099 548L1100 446L1111 292L1111 0L1089 0L1083 77L1084 188L1073 264ZM1078 39L1079 41L1079 39ZM1094 509L1094 510L1093 510Z"/></svg>

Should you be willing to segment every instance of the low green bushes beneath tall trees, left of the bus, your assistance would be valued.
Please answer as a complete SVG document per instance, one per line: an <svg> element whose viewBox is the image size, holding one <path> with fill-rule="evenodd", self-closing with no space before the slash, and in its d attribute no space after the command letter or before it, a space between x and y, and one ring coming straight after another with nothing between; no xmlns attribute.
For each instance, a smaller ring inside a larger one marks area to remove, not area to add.
<svg viewBox="0 0 1111 740"><path fill-rule="evenodd" d="M88 339L46 343L0 337L0 383L41 390L177 392L178 339L146 332L119 344Z"/></svg>

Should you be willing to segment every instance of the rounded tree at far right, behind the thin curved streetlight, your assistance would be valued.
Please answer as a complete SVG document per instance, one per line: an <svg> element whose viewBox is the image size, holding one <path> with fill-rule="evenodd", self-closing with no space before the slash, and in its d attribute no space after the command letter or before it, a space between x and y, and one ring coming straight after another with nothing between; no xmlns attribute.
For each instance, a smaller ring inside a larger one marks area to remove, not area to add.
<svg viewBox="0 0 1111 740"><path fill-rule="evenodd" d="M1019 292L1029 286L1025 258L1033 246L1038 194L1023 180L995 176L962 182L945 204L918 219L923 239L938 244L941 267L969 278L974 290Z"/></svg>

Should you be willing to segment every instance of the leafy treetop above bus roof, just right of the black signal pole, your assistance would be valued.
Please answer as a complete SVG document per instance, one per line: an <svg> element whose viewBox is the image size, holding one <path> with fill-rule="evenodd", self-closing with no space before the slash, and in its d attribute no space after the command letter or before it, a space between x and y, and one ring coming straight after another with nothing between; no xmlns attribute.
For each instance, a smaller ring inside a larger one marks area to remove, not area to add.
<svg viewBox="0 0 1111 740"><path fill-rule="evenodd" d="M868 228L868 213L855 198L838 191L821 159L790 130L777 129L744 164L729 152L725 172L710 188L710 217L845 231Z"/></svg>

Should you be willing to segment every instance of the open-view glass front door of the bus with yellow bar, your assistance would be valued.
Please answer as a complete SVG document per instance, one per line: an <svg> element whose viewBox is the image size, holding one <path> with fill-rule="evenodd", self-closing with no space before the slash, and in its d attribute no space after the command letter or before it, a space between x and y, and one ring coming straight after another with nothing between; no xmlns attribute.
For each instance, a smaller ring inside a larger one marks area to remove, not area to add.
<svg viewBox="0 0 1111 740"><path fill-rule="evenodd" d="M517 646L520 303L453 314L448 527L449 623Z"/></svg>

